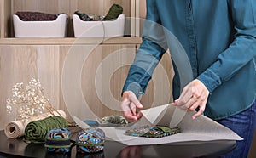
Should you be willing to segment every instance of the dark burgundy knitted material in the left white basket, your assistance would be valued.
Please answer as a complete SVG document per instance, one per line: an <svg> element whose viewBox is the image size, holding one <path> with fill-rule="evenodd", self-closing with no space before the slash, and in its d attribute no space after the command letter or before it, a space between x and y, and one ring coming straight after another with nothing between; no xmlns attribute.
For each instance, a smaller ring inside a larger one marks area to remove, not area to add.
<svg viewBox="0 0 256 158"><path fill-rule="evenodd" d="M56 14L45 14L40 12L17 12L20 20L23 21L41 21L41 20L56 20Z"/></svg>

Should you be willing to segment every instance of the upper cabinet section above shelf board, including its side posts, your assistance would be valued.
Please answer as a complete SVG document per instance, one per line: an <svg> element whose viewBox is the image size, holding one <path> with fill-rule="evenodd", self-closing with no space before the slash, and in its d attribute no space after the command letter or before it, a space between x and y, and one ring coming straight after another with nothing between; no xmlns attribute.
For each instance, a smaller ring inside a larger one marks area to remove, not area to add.
<svg viewBox="0 0 256 158"><path fill-rule="evenodd" d="M0 38L15 37L12 14L17 11L34 11L49 14L68 14L67 37L73 37L72 14L82 13L106 15L109 8L117 3L125 14L125 35L141 34L146 15L146 0L0 0Z"/></svg>

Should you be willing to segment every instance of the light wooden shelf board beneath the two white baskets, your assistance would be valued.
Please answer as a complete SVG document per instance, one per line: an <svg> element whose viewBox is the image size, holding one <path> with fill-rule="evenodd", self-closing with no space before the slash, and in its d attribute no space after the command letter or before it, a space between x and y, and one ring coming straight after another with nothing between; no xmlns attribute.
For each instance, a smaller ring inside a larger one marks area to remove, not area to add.
<svg viewBox="0 0 256 158"><path fill-rule="evenodd" d="M103 42L102 42L103 41ZM139 44L140 37L102 38L0 38L0 45L73 45L73 44Z"/></svg>

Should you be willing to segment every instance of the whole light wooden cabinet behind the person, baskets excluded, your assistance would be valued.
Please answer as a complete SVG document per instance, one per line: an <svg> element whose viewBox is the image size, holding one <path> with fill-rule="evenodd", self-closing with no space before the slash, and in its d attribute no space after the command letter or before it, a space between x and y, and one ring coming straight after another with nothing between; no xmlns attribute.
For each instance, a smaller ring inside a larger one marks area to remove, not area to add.
<svg viewBox="0 0 256 158"><path fill-rule="evenodd" d="M106 14L113 3L123 6L126 17L143 17L143 2L145 1L0 0L0 129L13 119L13 116L7 114L5 106L6 99L12 95L12 86L16 82L27 83L32 77L40 80L46 97L55 109L65 110L70 114L69 121L72 121L73 115L83 116L83 111L88 108L97 117L120 115L120 93L136 50L142 42L140 37L134 37L139 34L138 28L141 29L142 24L138 25L135 19L127 20L125 31L131 34L130 37L99 42L99 39L94 38L73 37L70 17L75 10ZM139 9L136 5L143 8L141 14L137 14ZM15 38L11 15L16 11L27 10L51 14L67 13L67 37ZM86 58L81 58L81 54L87 55ZM73 64L68 65L71 58ZM73 68L78 63L79 69ZM72 69L67 71L69 68ZM76 73L67 76L66 72ZM71 82L63 82L66 78ZM147 93L143 95L144 107L171 101L171 81L172 63L170 54L165 54L154 72ZM77 100L70 103L70 99L77 97L77 93L72 93L72 89L69 89L73 85L80 86L79 94L88 107L79 104Z"/></svg>

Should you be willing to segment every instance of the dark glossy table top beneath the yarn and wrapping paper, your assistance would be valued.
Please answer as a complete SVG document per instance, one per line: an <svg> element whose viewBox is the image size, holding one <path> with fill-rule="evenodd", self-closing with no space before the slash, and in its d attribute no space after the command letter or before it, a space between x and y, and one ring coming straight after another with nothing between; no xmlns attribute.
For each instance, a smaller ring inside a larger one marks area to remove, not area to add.
<svg viewBox="0 0 256 158"><path fill-rule="evenodd" d="M73 139L73 133L71 139ZM157 144L127 146L119 142L106 141L104 150L95 154L78 154L73 146L66 155L51 154L45 150L44 144L26 144L22 138L7 138L4 131L0 131L0 157L215 157L224 155L236 148L235 140L218 140L207 142L184 142L179 144Z"/></svg>

